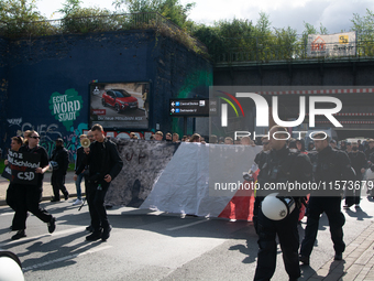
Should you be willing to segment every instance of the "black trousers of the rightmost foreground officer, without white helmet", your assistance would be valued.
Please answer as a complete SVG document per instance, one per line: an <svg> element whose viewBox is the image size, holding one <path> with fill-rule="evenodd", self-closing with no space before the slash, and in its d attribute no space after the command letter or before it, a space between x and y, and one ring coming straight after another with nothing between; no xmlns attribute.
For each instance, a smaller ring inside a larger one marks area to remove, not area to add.
<svg viewBox="0 0 374 281"><path fill-rule="evenodd" d="M326 213L330 234L336 252L341 253L345 249L343 241L343 225L345 217L341 213L341 197L314 197L310 196L308 203L308 220L305 229L305 237L301 242L300 255L309 257L315 246L319 218L322 213Z"/></svg>

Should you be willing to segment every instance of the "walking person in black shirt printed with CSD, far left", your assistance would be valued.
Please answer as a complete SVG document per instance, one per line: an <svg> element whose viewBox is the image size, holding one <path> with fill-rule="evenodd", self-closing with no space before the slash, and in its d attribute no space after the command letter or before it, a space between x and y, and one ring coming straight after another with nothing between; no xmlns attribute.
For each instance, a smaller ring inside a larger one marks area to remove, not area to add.
<svg viewBox="0 0 374 281"><path fill-rule="evenodd" d="M18 194L12 223L12 230L18 233L12 236L13 240L26 236L28 210L47 224L50 234L56 229L56 218L40 206L44 173L50 167L48 154L43 147L38 145L40 138L36 131L31 131L29 144L20 148L19 152L12 153L13 159L18 158L16 162L11 163L12 182L16 183L15 192ZM24 166L20 163L23 163Z"/></svg>

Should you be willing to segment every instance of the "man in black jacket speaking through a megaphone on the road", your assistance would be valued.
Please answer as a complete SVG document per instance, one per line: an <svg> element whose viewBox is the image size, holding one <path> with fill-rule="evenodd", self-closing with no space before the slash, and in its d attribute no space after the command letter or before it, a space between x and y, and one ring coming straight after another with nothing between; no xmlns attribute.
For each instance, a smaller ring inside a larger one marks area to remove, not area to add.
<svg viewBox="0 0 374 281"><path fill-rule="evenodd" d="M110 182L121 172L123 161L116 143L105 137L101 125L95 125L91 131L96 141L85 149L86 161L77 169L74 179L76 180L85 166L89 165L88 208L94 231L86 239L95 241L101 238L105 241L109 238L112 228L103 205L105 197Z"/></svg>

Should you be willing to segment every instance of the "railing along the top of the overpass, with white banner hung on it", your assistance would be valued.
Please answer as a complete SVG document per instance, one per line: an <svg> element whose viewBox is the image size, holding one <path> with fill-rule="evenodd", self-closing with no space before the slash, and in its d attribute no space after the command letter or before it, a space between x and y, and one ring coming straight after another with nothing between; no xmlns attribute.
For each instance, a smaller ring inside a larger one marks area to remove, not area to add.
<svg viewBox="0 0 374 281"><path fill-rule="evenodd" d="M229 50L215 57L216 63L255 62L268 63L272 61L298 60L346 60L374 57L374 41L358 41L349 45L339 42L324 43L323 46L311 46L305 42L292 45L262 45L254 44L246 50Z"/></svg>

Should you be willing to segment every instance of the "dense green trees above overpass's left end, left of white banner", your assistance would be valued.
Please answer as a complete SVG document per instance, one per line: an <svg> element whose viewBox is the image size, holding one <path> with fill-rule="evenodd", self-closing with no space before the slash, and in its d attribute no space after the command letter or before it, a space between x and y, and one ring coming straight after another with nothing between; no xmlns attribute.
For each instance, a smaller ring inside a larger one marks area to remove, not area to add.
<svg viewBox="0 0 374 281"><path fill-rule="evenodd" d="M207 45L215 62L288 60L297 51L296 30L288 26L272 31L265 13L260 13L255 25L246 19L197 25L194 36Z"/></svg>

